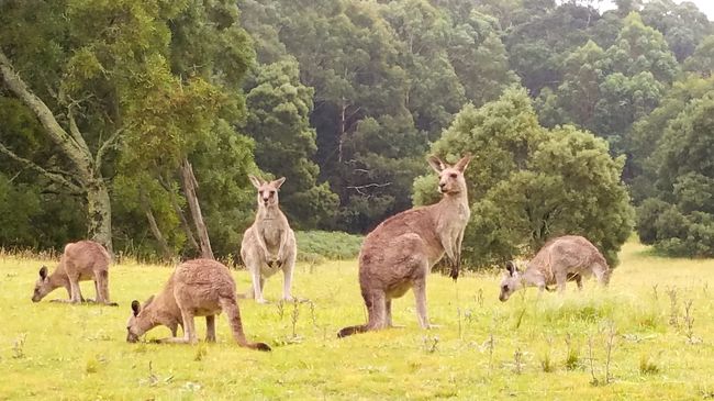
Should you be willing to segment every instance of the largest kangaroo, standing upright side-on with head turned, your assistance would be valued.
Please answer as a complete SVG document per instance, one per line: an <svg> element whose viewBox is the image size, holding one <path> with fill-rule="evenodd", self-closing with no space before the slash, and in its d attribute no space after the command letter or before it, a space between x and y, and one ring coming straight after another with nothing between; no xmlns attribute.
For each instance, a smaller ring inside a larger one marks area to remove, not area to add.
<svg viewBox="0 0 714 401"><path fill-rule="evenodd" d="M453 263L451 277L458 277L464 230L470 218L464 179L470 160L470 155L465 156L451 167L431 156L428 164L439 175L442 200L387 219L367 235L359 252L359 286L369 321L341 330L338 337L392 326L392 299L410 288L414 290L420 325L431 327L426 276L446 253Z"/></svg>

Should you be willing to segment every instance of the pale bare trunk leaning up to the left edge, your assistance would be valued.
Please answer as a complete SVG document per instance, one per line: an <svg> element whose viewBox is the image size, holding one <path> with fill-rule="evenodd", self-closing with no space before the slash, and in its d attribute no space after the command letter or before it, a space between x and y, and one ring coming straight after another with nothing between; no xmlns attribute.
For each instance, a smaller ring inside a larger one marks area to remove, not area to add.
<svg viewBox="0 0 714 401"><path fill-rule="evenodd" d="M44 127L45 134L47 134L71 163L74 168L69 172L80 183L87 200L89 220L87 230L88 237L104 245L107 250L113 254L112 211L109 201L109 190L99 166L94 165L94 157L92 157L87 142L85 142L81 133L77 129L71 112L68 113L70 134L57 122L57 119L45 102L27 88L27 85L15 73L12 64L2 51L0 51L0 77L5 87L32 110ZM52 179L51 175L45 174L45 177ZM63 182L63 180L55 179L55 182L67 187L66 180Z"/></svg>

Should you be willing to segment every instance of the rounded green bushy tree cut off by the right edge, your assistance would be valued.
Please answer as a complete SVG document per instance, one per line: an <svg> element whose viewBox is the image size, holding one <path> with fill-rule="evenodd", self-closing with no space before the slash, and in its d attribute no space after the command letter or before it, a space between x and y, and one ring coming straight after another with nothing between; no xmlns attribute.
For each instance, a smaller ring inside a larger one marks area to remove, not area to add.
<svg viewBox="0 0 714 401"><path fill-rule="evenodd" d="M714 90L680 103L647 167L656 191L638 210L643 241L671 256L714 256Z"/></svg>

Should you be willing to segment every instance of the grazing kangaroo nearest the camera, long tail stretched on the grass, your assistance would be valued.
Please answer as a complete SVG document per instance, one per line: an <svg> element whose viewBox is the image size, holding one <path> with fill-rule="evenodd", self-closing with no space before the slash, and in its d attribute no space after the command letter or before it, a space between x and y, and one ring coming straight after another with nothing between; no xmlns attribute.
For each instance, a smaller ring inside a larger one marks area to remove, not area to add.
<svg viewBox="0 0 714 401"><path fill-rule="evenodd" d="M197 343L194 316L205 316L207 342L215 342L215 315L225 312L238 345L270 350L264 343L248 343L243 333L241 311L236 302L235 281L224 265L212 259L194 259L180 264L169 277L164 290L150 297L144 305L132 301L132 315L126 323L126 341L136 343L147 331L163 324L172 337L163 343ZM176 337L178 326L183 337Z"/></svg>

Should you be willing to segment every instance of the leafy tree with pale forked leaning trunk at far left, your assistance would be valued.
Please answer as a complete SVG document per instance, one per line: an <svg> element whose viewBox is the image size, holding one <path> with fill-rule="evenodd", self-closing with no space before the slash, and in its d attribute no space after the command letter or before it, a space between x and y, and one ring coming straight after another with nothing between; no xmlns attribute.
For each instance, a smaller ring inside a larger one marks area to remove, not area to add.
<svg viewBox="0 0 714 401"><path fill-rule="evenodd" d="M9 1L1 11L3 86L35 114L43 140L53 144L62 161L41 166L33 155L0 149L65 191L81 194L88 236L111 252L107 158L131 126L123 111L143 94L142 77L163 67L156 62L168 33L165 21L177 8Z"/></svg>

